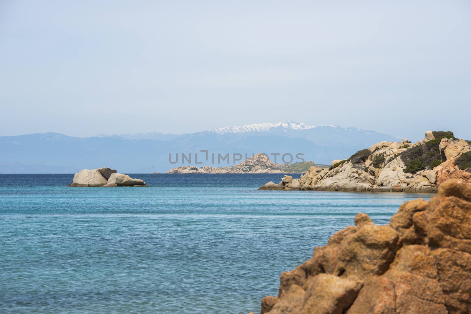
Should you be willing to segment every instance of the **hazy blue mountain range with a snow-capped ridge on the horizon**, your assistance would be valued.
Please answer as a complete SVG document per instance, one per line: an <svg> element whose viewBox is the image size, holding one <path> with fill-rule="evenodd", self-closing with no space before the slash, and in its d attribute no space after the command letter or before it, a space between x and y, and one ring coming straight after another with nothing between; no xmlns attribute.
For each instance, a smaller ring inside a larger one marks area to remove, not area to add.
<svg viewBox="0 0 471 314"><path fill-rule="evenodd" d="M339 156L348 157L372 142L395 141L387 134L356 127L308 126L301 122L262 123L215 128L196 133L164 134L100 134L93 137L73 137L60 133L35 133L0 137L0 173L75 173L84 168L109 165L124 173L166 172L176 166L195 165L214 167L235 165L233 154L259 152L277 155L281 162L285 153L294 158L303 154L304 160L329 164ZM207 150L208 160L203 158ZM212 163L211 154L216 156ZM175 161L178 154L178 163ZM193 155L192 163L182 156ZM217 156L230 155L230 160L217 163ZM289 159L289 157L286 157ZM299 161L293 159L293 163Z"/></svg>

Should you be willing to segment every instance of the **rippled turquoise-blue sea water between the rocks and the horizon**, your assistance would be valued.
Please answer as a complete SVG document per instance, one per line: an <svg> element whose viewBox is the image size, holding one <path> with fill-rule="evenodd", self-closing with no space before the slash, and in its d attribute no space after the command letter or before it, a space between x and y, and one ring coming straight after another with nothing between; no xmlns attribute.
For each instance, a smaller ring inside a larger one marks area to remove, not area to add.
<svg viewBox="0 0 471 314"><path fill-rule="evenodd" d="M258 313L357 212L386 224L431 197L257 190L280 174L130 175L151 187L0 174L0 313Z"/></svg>

